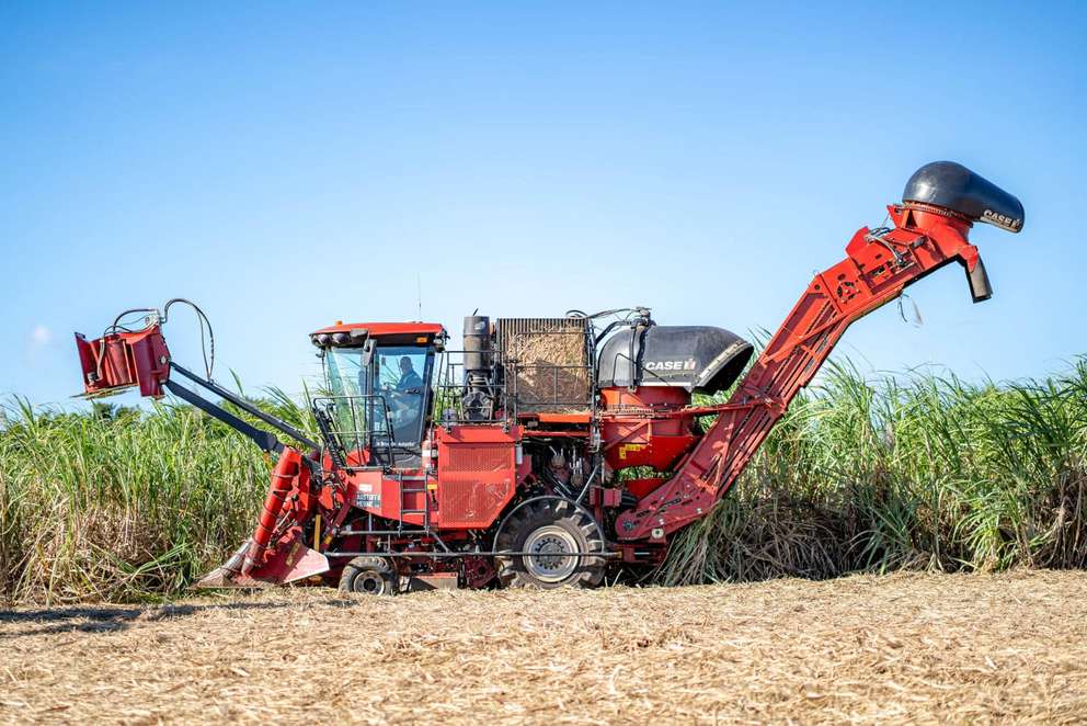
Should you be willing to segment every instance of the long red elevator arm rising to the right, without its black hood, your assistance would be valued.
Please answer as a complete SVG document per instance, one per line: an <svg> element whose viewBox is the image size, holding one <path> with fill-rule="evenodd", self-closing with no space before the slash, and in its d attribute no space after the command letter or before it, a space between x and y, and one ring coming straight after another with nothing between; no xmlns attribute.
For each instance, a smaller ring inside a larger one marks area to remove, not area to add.
<svg viewBox="0 0 1087 726"><path fill-rule="evenodd" d="M922 205L888 206L892 229L861 228L846 259L816 274L722 412L675 475L617 521L620 540L663 541L729 491L789 402L853 322L925 275L958 261L975 303L992 295L971 222Z"/></svg>

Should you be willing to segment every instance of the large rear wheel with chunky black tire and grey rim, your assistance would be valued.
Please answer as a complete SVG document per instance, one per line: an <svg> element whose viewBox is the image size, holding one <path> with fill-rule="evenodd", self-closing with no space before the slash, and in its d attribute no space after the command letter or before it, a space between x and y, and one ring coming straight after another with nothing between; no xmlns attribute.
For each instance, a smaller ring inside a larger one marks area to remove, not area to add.
<svg viewBox="0 0 1087 726"><path fill-rule="evenodd" d="M563 556L567 552L604 553L596 520L568 499L525 502L503 524L494 544L496 551L538 553L494 558L499 580L507 588L594 588L604 580L604 557Z"/></svg>

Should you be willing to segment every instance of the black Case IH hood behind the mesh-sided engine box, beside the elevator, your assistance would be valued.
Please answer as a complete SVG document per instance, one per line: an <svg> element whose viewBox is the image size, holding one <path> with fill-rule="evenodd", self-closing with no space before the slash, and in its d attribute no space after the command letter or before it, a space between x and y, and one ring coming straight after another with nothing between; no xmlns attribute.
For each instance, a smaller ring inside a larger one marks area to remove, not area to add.
<svg viewBox="0 0 1087 726"><path fill-rule="evenodd" d="M602 388L676 386L716 394L743 373L754 348L723 328L637 326L604 343L597 382Z"/></svg>

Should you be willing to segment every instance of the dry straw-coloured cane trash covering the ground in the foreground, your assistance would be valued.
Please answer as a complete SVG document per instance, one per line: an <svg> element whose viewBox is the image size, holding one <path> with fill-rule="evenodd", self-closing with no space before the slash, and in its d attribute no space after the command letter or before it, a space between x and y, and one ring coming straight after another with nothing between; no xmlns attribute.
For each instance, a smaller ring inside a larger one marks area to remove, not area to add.
<svg viewBox="0 0 1087 726"><path fill-rule="evenodd" d="M1087 574L0 612L0 721L1087 718Z"/></svg>

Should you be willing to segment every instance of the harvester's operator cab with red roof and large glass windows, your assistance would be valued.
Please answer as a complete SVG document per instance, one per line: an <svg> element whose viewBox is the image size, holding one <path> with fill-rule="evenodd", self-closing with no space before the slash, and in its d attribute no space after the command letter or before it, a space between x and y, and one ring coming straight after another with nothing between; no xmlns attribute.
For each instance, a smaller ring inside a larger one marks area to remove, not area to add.
<svg viewBox="0 0 1087 726"><path fill-rule="evenodd" d="M433 408L440 325L350 324L310 336L321 349L327 390L314 398L325 443L348 466L416 467ZM321 419L323 418L323 421Z"/></svg>

